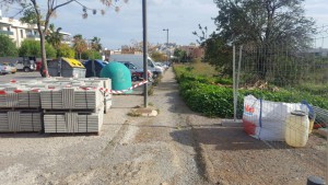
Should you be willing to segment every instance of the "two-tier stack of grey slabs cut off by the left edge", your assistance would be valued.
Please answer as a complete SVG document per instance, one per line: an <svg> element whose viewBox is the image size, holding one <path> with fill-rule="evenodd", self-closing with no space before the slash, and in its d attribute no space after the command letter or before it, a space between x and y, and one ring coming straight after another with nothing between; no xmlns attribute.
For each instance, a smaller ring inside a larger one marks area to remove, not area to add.
<svg viewBox="0 0 328 185"><path fill-rule="evenodd" d="M23 84L0 85L0 132L40 131L39 93Z"/></svg>

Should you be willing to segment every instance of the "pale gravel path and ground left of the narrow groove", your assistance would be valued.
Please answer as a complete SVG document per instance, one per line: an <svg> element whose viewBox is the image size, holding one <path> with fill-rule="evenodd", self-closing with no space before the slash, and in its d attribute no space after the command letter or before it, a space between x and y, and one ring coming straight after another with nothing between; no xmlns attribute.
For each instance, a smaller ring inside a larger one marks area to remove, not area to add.
<svg viewBox="0 0 328 185"><path fill-rule="evenodd" d="M150 102L157 117L129 117L142 96L115 96L101 136L1 134L1 184L209 184L172 69Z"/></svg>

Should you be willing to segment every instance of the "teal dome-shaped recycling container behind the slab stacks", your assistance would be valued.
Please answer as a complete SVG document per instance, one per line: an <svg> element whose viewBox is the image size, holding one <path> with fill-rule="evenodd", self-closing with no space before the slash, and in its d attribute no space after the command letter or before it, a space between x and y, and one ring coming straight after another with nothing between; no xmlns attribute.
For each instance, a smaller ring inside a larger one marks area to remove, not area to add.
<svg viewBox="0 0 328 185"><path fill-rule="evenodd" d="M130 70L120 62L110 61L101 71L101 78L112 79L112 89L115 91L127 90L131 88ZM132 90L125 93L131 93Z"/></svg>

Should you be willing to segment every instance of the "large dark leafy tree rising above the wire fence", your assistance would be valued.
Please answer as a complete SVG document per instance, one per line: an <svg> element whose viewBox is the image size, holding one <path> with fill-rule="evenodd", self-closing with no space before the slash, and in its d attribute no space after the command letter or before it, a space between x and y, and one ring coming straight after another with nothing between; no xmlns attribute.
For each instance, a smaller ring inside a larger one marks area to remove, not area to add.
<svg viewBox="0 0 328 185"><path fill-rule="evenodd" d="M283 44L283 49L292 53L307 50L312 46L312 35L316 33L315 22L305 16L304 0L214 0L219 14L214 18L216 32L207 36L207 26L199 25L192 34L204 48L204 61L218 71L232 77L233 45L257 46L258 55L253 65L259 79L268 74L265 65L268 57L279 50L269 50L270 45ZM292 27L292 28L291 28ZM276 43L276 44L274 44ZM254 50L254 49L253 49ZM276 60L278 62L280 60ZM274 65L274 63L270 63Z"/></svg>

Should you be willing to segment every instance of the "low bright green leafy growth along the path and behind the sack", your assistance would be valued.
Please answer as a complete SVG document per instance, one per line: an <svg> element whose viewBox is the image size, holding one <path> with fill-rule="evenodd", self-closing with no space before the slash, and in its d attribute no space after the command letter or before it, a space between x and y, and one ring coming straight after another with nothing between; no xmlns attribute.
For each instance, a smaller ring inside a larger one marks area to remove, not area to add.
<svg viewBox="0 0 328 185"><path fill-rule="evenodd" d="M174 70L179 83L180 95L195 112L210 117L233 117L233 89L231 79L201 74L194 66L175 65ZM279 91L254 89L238 91L237 117L243 114L243 99L251 94L257 99L274 102L297 103L306 100L308 103L328 109L328 100L323 95L314 95L304 89L279 89Z"/></svg>

